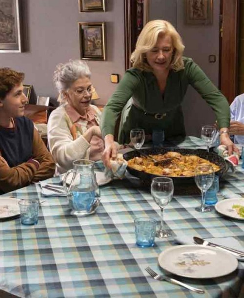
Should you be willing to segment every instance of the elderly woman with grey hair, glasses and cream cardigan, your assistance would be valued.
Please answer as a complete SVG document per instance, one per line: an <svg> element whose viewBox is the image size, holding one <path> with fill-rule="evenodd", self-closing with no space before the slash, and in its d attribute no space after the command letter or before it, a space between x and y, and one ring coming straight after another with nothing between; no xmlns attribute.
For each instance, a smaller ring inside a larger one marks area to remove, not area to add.
<svg viewBox="0 0 244 298"><path fill-rule="evenodd" d="M54 72L61 106L49 117L47 136L56 175L71 169L76 159L101 159L101 111L90 105L94 91L90 78L88 65L80 60L58 64Z"/></svg>

